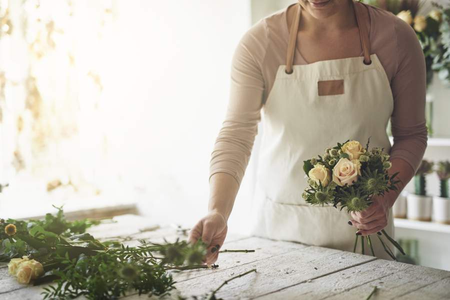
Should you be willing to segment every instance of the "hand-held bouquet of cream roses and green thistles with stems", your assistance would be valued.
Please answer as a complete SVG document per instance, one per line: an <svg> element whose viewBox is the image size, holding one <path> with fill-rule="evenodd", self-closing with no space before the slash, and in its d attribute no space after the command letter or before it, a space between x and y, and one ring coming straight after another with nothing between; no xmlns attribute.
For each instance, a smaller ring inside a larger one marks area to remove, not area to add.
<svg viewBox="0 0 450 300"><path fill-rule="evenodd" d="M369 139L370 140L370 139ZM361 212L372 204L372 197L383 196L390 190L396 191L395 180L398 172L387 173L391 163L389 155L382 148L368 150L369 141L365 148L358 141L337 143L336 147L327 148L320 156L304 161L303 170L308 177L308 186L302 198L311 205L330 205L335 208L346 208L347 212ZM396 260L393 252L386 246L383 236L404 255L403 249L384 231L377 233L384 251ZM355 238L353 252L356 251L358 236ZM370 236L367 244L375 256ZM364 237L361 236L361 249L364 254Z"/></svg>

